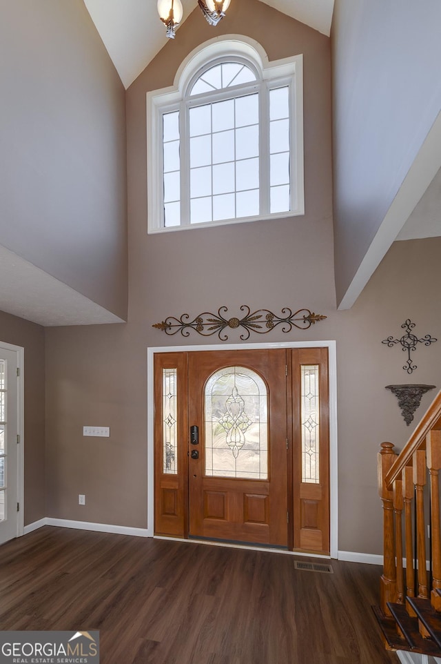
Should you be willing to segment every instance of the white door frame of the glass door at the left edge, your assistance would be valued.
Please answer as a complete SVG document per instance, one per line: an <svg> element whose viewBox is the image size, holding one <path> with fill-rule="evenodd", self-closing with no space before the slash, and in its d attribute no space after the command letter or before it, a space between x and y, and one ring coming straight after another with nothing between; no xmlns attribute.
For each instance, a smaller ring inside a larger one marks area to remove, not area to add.
<svg viewBox="0 0 441 664"><path fill-rule="evenodd" d="M25 349L23 346L15 346L0 341L0 349L6 349L17 354L17 368L19 369L19 380L17 380L17 433L19 435L19 446L17 450L17 500L20 504L20 510L17 513L17 537L24 535L24 516L25 516L25 469L24 469L24 450L25 450L25 421L24 421L24 400L25 400Z"/></svg>

